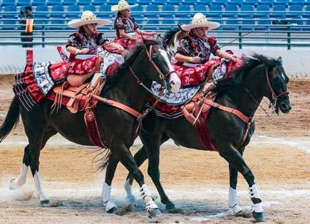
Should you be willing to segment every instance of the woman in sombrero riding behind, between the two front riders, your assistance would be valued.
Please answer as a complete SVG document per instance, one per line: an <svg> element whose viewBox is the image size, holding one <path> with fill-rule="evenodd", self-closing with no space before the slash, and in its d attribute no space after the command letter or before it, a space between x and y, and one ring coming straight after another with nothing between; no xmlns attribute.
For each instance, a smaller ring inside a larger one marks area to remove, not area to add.
<svg viewBox="0 0 310 224"><path fill-rule="evenodd" d="M116 43L120 43L124 48L130 50L135 43L141 43L142 37L145 39L153 39L155 32L146 32L140 30L135 19L130 16L130 8L138 6L138 4L129 5L127 1L120 0L117 5L111 6L111 11L118 12L114 21L116 31Z"/></svg>

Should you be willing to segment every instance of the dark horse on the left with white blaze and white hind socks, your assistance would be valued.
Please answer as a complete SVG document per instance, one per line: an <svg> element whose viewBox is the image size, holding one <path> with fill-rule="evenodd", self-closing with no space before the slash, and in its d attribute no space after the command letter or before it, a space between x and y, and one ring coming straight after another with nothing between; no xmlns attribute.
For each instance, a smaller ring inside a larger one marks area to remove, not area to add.
<svg viewBox="0 0 310 224"><path fill-rule="evenodd" d="M153 81L162 83L163 86L169 87L174 92L180 88L180 79L177 78L175 71L172 69L165 50L155 41L145 41L145 43L135 48L130 57L120 65L120 68L112 77L107 78L106 84L100 92L100 97L120 102L141 114L148 97L148 90ZM30 166L41 205L51 203L43 191L38 171L40 151L46 145L48 139L60 133L63 137L76 144L93 145L91 139L88 138L83 112L72 114L64 107L61 107L58 112L53 112L51 105L51 100L43 99L27 112L21 107L18 98L15 96L4 123L0 127L1 142L17 124L19 114L21 114L29 144L24 148L21 172L17 178L11 180L9 188L17 189L26 183L27 171ZM129 150L136 137L137 117L100 101L97 103L95 115L98 130L101 136L104 136L102 140L109 150L108 153L103 154L99 169L105 169L110 156L120 161L140 184L140 191L149 215L160 215L160 210L154 203L148 186L145 185L143 174L135 164L133 155ZM109 186L103 186L103 192L109 191ZM106 199L103 203L109 212L109 200Z"/></svg>

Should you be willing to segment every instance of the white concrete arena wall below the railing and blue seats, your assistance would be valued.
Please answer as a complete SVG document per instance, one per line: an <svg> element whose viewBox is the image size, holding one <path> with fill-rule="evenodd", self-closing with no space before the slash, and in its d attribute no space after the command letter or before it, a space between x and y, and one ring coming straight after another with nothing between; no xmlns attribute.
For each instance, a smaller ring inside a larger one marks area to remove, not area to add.
<svg viewBox="0 0 310 224"><path fill-rule="evenodd" d="M287 75L293 78L310 79L310 48L292 48L286 50L282 47L244 47L239 50L237 47L227 46L223 50L231 49L237 55L246 53L260 53L272 58L282 57L284 68ZM36 61L60 61L56 46L46 48L33 48L33 59ZM0 47L0 74L19 73L24 70L26 63L26 48L19 46Z"/></svg>

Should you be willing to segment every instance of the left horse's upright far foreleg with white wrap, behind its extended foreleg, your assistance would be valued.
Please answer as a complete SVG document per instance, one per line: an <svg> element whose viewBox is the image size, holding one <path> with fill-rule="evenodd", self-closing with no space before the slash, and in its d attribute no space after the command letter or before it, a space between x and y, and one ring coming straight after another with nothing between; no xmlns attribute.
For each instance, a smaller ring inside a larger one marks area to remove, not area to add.
<svg viewBox="0 0 310 224"><path fill-rule="evenodd" d="M111 185L117 166L118 159L116 159L115 156L111 154L108 161L107 170L105 171L105 183L103 183L103 189L101 193L101 199L107 213L113 213L113 211L117 208L115 203L110 199Z"/></svg>

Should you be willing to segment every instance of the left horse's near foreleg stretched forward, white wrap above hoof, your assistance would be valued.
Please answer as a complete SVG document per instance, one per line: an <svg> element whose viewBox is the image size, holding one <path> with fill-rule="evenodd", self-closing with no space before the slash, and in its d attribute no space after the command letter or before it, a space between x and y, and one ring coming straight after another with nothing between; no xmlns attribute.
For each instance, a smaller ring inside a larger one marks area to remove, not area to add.
<svg viewBox="0 0 310 224"><path fill-rule="evenodd" d="M114 150L113 150L114 149ZM152 198L152 194L148 189L148 186L145 184L144 177L137 164L133 155L130 153L130 150L127 146L122 144L119 147L111 147L112 153L115 154L116 159L120 161L123 166L130 172L130 174L135 178L135 181L138 182L140 186L140 196L145 201L145 209L148 211L150 216L161 215L160 210Z"/></svg>

